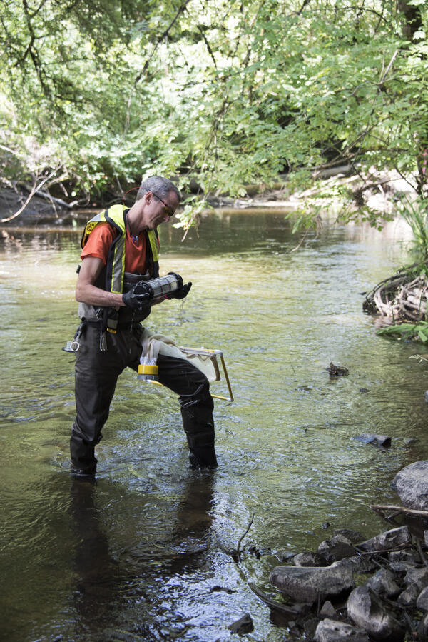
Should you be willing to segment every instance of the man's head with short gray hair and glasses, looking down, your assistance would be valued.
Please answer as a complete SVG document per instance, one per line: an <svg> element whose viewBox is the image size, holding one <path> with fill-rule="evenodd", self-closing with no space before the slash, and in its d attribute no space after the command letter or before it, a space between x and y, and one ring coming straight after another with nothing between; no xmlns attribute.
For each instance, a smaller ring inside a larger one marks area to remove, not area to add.
<svg viewBox="0 0 428 642"><path fill-rule="evenodd" d="M164 221L169 221L180 199L181 194L172 181L163 176L151 176L141 183L130 211L131 219L135 219L138 213L138 226L143 226L141 229L155 229Z"/></svg>

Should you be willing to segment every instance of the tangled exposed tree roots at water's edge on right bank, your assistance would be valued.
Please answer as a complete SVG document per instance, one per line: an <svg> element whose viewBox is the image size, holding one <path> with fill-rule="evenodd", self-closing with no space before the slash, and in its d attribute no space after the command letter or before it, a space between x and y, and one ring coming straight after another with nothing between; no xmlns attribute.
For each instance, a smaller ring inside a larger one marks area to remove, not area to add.
<svg viewBox="0 0 428 642"><path fill-rule="evenodd" d="M366 295L362 309L381 314L394 323L415 323L427 319L427 295L428 278L421 274L421 266L414 264L374 286Z"/></svg>

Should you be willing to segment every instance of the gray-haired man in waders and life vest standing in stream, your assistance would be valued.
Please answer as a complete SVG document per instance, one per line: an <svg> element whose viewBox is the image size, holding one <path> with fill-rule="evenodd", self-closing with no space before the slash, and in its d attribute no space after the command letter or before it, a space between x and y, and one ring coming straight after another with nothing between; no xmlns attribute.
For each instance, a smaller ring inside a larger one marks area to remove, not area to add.
<svg viewBox="0 0 428 642"><path fill-rule="evenodd" d="M71 471L93 476L95 446L108 418L119 374L138 369L141 321L153 304L183 299L191 284L147 302L135 285L159 276L157 227L169 221L180 201L163 176L143 181L131 209L114 205L86 224L76 299L82 320L76 353L76 421L71 428ZM159 381L180 395L181 415L193 468L217 466L213 398L207 378L185 359L158 356Z"/></svg>

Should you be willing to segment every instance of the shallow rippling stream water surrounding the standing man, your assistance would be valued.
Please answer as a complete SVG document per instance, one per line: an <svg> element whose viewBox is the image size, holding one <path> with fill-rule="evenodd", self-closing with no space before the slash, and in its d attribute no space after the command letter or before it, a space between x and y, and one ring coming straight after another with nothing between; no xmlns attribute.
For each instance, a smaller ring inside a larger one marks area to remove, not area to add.
<svg viewBox="0 0 428 642"><path fill-rule="evenodd" d="M223 641L246 612L248 640L287 638L248 581L274 596L278 551L313 549L333 528L379 532L368 504L397 501L394 474L428 457L427 371L409 359L423 348L377 336L362 313L360 293L407 259L397 225L327 226L295 252L272 211L218 211L184 243L161 229L161 274L193 289L147 325L223 350L235 401L215 403L220 467L190 470L177 399L128 371L94 484L68 473L73 356L61 351L77 326L80 232L0 233L2 639ZM330 378L330 361L349 376ZM352 439L367 432L391 448Z"/></svg>

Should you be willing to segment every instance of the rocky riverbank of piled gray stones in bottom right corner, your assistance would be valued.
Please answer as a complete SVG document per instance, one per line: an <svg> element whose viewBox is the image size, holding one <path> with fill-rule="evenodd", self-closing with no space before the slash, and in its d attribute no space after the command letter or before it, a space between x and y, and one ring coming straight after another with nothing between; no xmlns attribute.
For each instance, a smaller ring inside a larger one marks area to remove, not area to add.
<svg viewBox="0 0 428 642"><path fill-rule="evenodd" d="M403 468L392 488L402 506L374 508L393 528L366 540L338 529L272 568L278 601L252 587L295 638L428 641L428 461Z"/></svg>

